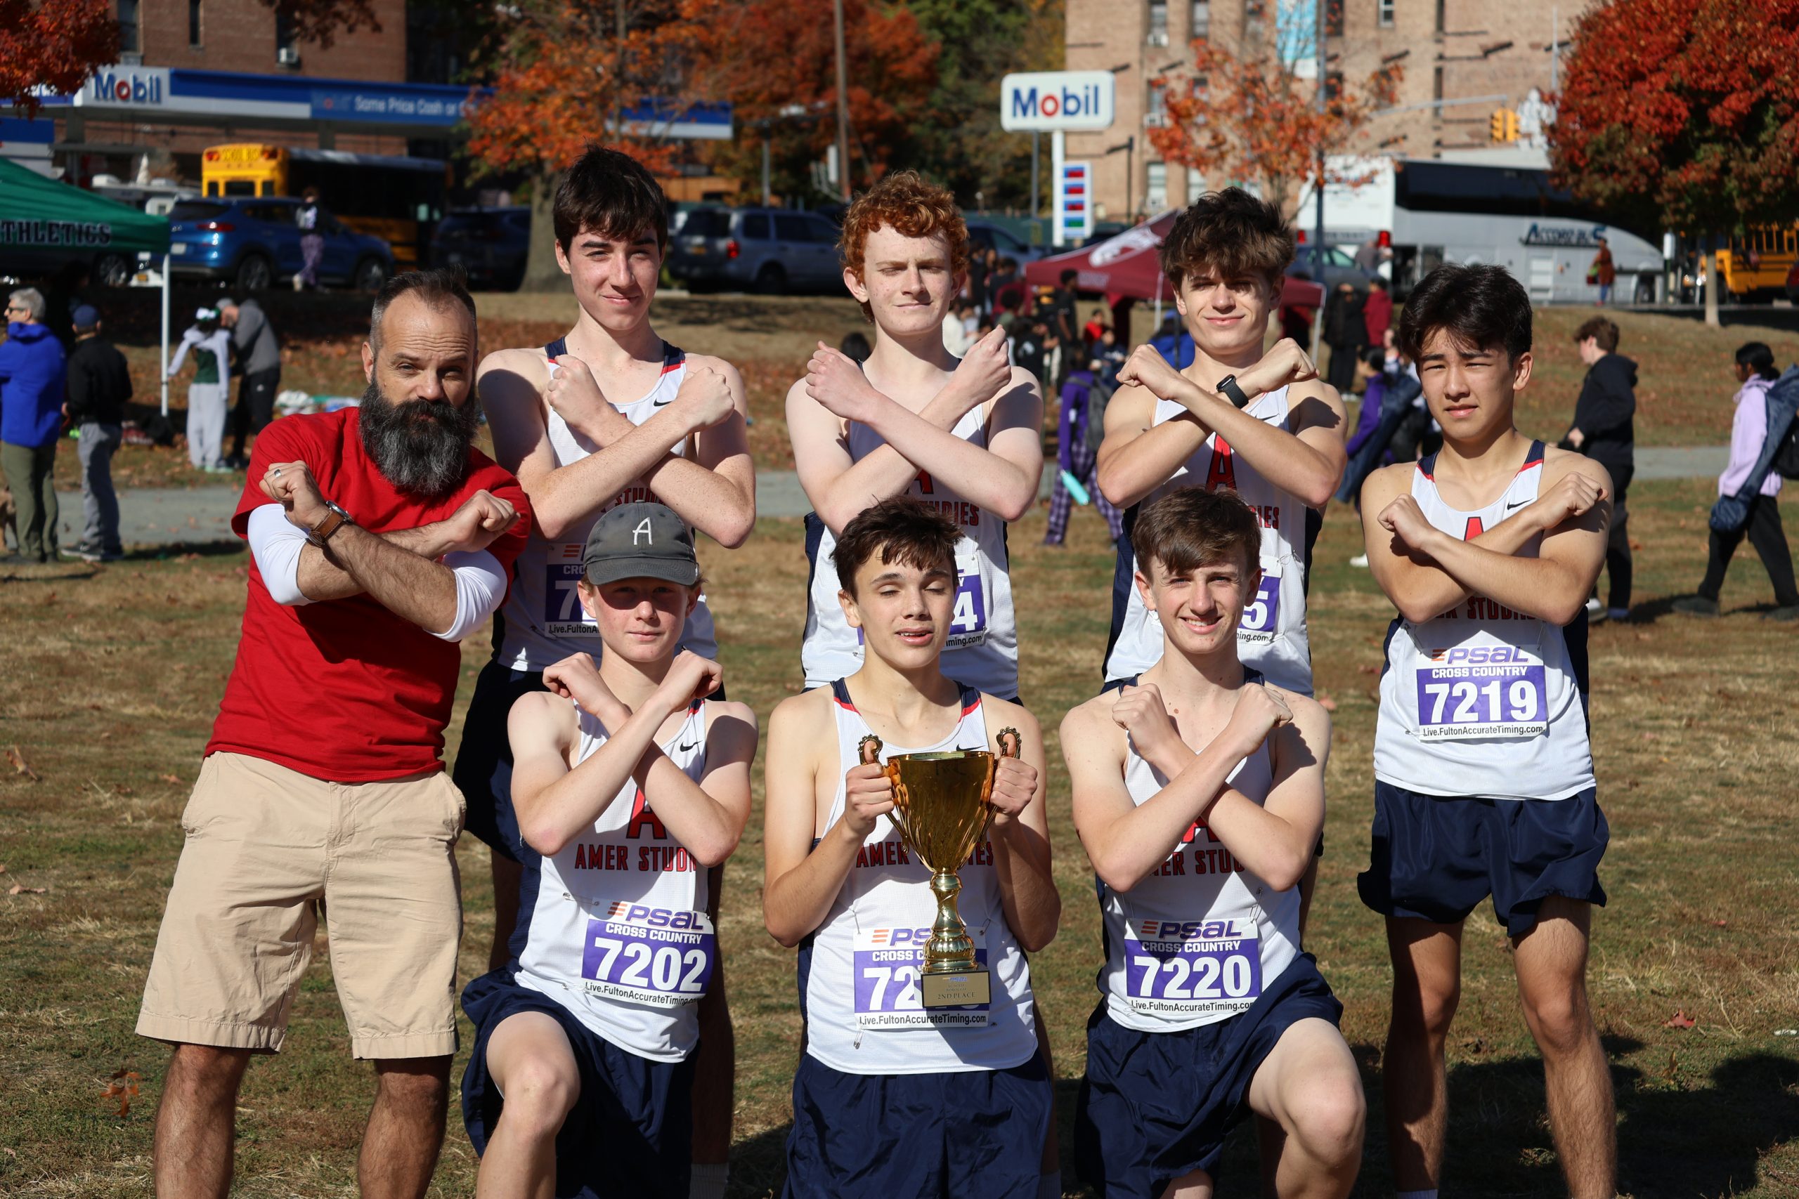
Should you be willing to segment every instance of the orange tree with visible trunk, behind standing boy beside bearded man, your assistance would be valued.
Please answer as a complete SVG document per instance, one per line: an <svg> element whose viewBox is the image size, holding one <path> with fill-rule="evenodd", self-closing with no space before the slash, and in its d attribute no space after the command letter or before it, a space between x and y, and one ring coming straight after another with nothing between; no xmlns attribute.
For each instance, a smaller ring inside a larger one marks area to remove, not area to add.
<svg viewBox="0 0 1799 1199"><path fill-rule="evenodd" d="M479 67L493 90L468 117L477 169L525 171L531 253L525 289L559 288L550 219L556 185L588 146L666 171L667 124L694 93L700 32L723 0L525 0ZM646 106L653 111L644 117Z"/></svg>

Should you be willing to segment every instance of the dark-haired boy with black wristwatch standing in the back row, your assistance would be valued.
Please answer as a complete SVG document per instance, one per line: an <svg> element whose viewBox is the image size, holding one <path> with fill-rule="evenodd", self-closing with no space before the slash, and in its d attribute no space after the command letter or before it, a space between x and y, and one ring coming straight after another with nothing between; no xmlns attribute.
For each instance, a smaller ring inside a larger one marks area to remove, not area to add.
<svg viewBox="0 0 1799 1199"><path fill-rule="evenodd" d="M1229 487L1256 512L1261 588L1238 629L1243 663L1270 683L1311 694L1306 642L1306 527L1342 480L1347 421L1337 390L1306 352L1277 342L1268 316L1293 261L1281 210L1240 187L1189 205L1162 243L1162 271L1195 342L1193 365L1175 370L1139 345L1119 370L1099 446L1099 489L1121 509L1177 487ZM1105 679L1142 674L1162 654L1162 631L1132 584L1132 512L1112 577Z"/></svg>

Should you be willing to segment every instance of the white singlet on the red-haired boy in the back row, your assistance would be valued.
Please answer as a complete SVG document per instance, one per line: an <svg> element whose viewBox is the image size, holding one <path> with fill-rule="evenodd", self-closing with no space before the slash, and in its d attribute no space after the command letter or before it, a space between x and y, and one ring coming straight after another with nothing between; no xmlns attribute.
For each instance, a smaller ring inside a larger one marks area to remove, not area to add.
<svg viewBox="0 0 1799 1199"><path fill-rule="evenodd" d="M988 428L982 408L968 412L950 430L962 440L986 446ZM887 444L865 424L849 422L849 458L860 462ZM970 500L919 471L905 494L948 516L962 530L955 543L955 615L950 638L943 644L943 672L989 696L1018 696L1018 626L1013 618L1011 566L1006 557L1006 521L984 512ZM806 518L806 559L811 577L806 584L806 636L801 642L801 667L806 687L824 687L862 669L862 633L844 620L837 600L838 577L831 563L837 537L819 520Z"/></svg>

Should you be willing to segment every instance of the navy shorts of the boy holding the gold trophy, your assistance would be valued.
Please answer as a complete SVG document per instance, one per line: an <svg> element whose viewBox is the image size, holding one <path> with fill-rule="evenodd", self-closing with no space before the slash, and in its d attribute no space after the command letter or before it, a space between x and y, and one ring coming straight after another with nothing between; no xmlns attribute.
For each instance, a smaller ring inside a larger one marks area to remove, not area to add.
<svg viewBox="0 0 1799 1199"><path fill-rule="evenodd" d="M928 1075L851 1075L802 1053L783 1195L1036 1199L1054 1107L1042 1052Z"/></svg>

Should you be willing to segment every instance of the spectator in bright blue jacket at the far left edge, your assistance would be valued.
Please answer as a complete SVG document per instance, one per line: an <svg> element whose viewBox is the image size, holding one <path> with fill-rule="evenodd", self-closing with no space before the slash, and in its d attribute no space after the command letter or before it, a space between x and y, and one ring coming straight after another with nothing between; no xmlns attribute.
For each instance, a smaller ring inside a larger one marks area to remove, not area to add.
<svg viewBox="0 0 1799 1199"><path fill-rule="evenodd" d="M0 469L13 487L18 555L56 561L56 439L63 428L68 360L43 324L43 293L14 291L0 343Z"/></svg>

